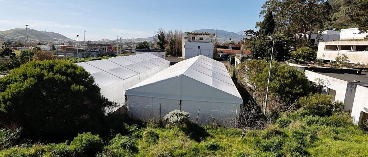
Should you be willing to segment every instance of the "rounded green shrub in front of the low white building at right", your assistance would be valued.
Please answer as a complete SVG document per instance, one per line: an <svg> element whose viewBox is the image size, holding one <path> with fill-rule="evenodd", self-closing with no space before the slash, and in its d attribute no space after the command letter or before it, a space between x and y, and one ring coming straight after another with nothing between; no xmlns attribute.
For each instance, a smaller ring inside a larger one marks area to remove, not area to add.
<svg viewBox="0 0 368 157"><path fill-rule="evenodd" d="M332 95L314 94L299 99L300 106L313 115L331 116L333 113Z"/></svg>

